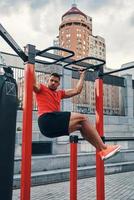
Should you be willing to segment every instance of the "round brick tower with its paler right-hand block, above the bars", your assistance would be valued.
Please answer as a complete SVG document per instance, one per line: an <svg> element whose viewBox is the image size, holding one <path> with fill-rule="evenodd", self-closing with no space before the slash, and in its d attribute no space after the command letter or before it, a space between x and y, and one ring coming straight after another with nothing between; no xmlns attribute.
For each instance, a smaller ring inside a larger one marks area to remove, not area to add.
<svg viewBox="0 0 134 200"><path fill-rule="evenodd" d="M75 59L86 56L106 59L105 39L92 34L92 18L81 12L76 4L62 16L59 46L74 51Z"/></svg>

